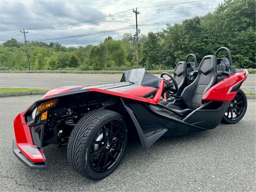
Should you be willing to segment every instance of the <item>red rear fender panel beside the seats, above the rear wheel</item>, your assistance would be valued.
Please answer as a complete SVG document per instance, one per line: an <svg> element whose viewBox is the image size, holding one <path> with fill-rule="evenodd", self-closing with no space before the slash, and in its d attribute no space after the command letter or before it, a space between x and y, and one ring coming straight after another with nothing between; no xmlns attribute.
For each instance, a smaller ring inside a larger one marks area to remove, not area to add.
<svg viewBox="0 0 256 192"><path fill-rule="evenodd" d="M236 92L230 92L232 87L246 79L246 72L241 71L230 75L221 82L212 86L203 97L203 100L212 101L231 101L234 99Z"/></svg>

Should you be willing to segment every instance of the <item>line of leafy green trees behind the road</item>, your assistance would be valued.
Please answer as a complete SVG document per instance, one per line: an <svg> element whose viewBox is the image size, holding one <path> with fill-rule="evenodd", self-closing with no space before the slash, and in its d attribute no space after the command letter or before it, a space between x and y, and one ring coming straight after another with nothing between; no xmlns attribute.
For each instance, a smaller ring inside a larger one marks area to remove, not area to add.
<svg viewBox="0 0 256 192"><path fill-rule="evenodd" d="M194 53L200 61L226 46L237 68L255 68L255 1L226 0L214 12L139 36L139 66L171 69ZM98 45L66 47L27 42L31 70L125 70L136 67L135 34L111 36ZM224 53L223 53L224 54ZM223 55L224 56L224 55ZM27 70L25 45L12 38L0 44L0 70Z"/></svg>

